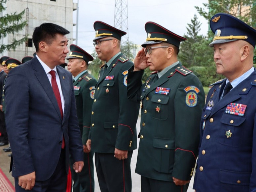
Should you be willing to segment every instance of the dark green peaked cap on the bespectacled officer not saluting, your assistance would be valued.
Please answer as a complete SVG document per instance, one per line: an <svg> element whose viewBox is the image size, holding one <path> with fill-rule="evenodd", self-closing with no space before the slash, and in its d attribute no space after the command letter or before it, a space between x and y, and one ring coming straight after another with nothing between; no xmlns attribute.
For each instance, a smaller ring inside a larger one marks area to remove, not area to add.
<svg viewBox="0 0 256 192"><path fill-rule="evenodd" d="M114 28L111 25L102 21L95 21L93 27L96 31L95 39L93 41L104 37L114 37L118 40L121 40L121 37L126 35L126 32Z"/></svg>

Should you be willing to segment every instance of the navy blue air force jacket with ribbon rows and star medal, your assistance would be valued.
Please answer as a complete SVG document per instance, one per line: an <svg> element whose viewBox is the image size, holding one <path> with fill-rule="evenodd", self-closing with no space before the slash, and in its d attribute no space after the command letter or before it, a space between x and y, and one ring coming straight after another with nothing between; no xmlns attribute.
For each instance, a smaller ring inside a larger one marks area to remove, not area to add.
<svg viewBox="0 0 256 192"><path fill-rule="evenodd" d="M255 192L256 72L220 100L225 84L213 84L203 109L194 189Z"/></svg>

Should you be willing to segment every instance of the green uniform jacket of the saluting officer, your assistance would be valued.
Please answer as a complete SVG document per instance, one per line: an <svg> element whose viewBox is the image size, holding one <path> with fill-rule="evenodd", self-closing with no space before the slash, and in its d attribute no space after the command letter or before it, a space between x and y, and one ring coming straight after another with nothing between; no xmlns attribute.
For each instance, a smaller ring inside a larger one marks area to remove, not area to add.
<svg viewBox="0 0 256 192"><path fill-rule="evenodd" d="M127 78L129 99L141 101L140 144L135 172L173 182L190 180L198 155L205 93L200 80L180 63L154 82L152 73L142 85L143 71Z"/></svg>

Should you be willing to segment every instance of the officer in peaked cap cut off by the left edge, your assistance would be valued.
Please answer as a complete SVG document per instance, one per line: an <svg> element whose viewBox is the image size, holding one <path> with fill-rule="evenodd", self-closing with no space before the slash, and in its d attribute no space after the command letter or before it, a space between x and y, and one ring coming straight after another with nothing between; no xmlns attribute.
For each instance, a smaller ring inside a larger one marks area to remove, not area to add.
<svg viewBox="0 0 256 192"><path fill-rule="evenodd" d="M4 72L3 65L5 65L5 61L9 59L10 57L3 56L0 58L0 101L2 101L3 96L3 86L4 86L4 80L6 78L6 73ZM5 127L5 118L4 113L0 111L0 146L8 144L8 135L6 132Z"/></svg>

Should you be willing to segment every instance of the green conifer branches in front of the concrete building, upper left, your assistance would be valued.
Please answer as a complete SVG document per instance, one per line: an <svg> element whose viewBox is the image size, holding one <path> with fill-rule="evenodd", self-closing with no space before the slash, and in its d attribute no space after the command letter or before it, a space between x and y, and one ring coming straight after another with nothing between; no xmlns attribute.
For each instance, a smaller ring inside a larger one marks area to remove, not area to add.
<svg viewBox="0 0 256 192"><path fill-rule="evenodd" d="M6 7L4 6L6 1L7 0L0 0L0 13L6 10ZM0 17L0 39L5 38L7 34L14 35L26 26L27 21L22 21L22 16L24 15L24 13L25 10L23 10L19 14L15 12ZM13 42L11 44L0 45L0 53L4 52L5 50L15 50L15 48L20 44L24 43L26 39L27 37L19 40L13 39Z"/></svg>

